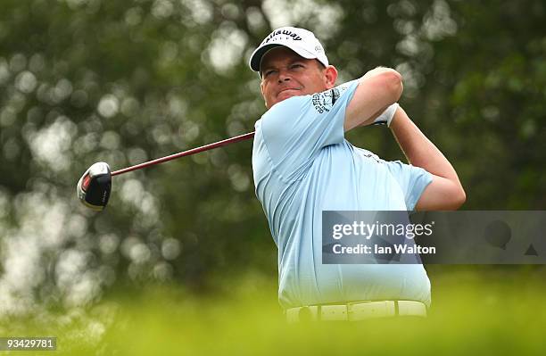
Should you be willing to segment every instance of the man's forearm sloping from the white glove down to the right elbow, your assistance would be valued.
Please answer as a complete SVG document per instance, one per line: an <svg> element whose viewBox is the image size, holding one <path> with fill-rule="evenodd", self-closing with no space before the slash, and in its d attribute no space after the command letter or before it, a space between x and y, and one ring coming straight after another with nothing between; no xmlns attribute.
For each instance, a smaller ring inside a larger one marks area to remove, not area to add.
<svg viewBox="0 0 546 356"><path fill-rule="evenodd" d="M460 186L459 177L450 161L409 119L401 107L394 114L390 128L409 163Z"/></svg>

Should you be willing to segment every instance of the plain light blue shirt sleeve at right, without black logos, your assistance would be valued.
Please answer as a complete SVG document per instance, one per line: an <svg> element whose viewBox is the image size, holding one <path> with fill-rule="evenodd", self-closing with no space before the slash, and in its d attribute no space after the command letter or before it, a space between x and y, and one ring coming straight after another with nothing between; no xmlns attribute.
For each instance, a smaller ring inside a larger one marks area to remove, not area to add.
<svg viewBox="0 0 546 356"><path fill-rule="evenodd" d="M432 174L420 167L401 161L387 161L385 163L401 187L408 211L413 211L426 186L432 182Z"/></svg>

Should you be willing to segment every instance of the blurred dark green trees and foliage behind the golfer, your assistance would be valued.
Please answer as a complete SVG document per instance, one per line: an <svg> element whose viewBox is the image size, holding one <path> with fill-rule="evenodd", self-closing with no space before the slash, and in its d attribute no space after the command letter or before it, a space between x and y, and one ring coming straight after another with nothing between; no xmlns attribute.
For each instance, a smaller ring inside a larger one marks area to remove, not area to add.
<svg viewBox="0 0 546 356"><path fill-rule="evenodd" d="M116 170L252 131L265 108L248 58L286 25L316 33L340 83L379 65L401 72L401 104L458 171L463 209L545 209L540 0L3 0L1 318L85 314L150 286L206 296L235 284L275 300L252 142L113 178L101 213L79 203L76 183L95 161ZM386 128L348 139L404 159ZM427 269L433 301L460 286L456 273L484 290L526 276L538 291L546 277L528 266ZM97 318L100 336L109 324Z"/></svg>

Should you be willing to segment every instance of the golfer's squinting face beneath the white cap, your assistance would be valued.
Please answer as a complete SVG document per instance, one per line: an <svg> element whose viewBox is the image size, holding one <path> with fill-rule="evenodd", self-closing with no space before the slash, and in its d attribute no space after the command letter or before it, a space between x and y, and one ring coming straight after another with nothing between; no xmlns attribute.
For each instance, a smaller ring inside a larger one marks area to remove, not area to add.
<svg viewBox="0 0 546 356"><path fill-rule="evenodd" d="M261 95L268 109L292 96L332 88L337 78L334 67L325 68L317 60L305 59L285 46L273 48L263 56L260 73Z"/></svg>

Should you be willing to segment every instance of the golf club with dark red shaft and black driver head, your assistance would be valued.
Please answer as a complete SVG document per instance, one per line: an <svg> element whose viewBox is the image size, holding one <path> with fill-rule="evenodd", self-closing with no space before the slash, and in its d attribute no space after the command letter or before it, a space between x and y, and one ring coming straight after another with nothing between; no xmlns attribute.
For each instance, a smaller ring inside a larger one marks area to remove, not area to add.
<svg viewBox="0 0 546 356"><path fill-rule="evenodd" d="M248 134L227 138L213 144L203 145L201 147L192 148L191 150L180 153L174 153L169 156L155 159L153 161L146 161L144 163L136 164L122 170L114 170L113 172L111 172L108 163L96 162L91 167L89 167L89 169L86 170L81 178L79 178L78 186L76 187L79 201L94 211L102 211L104 207L106 207L108 199L110 198L113 176L127 173L132 170L140 170L146 167L153 166L155 164L171 161L195 153L209 151L224 145L234 144L236 142L244 141L252 137L254 137L254 132L249 132Z"/></svg>

